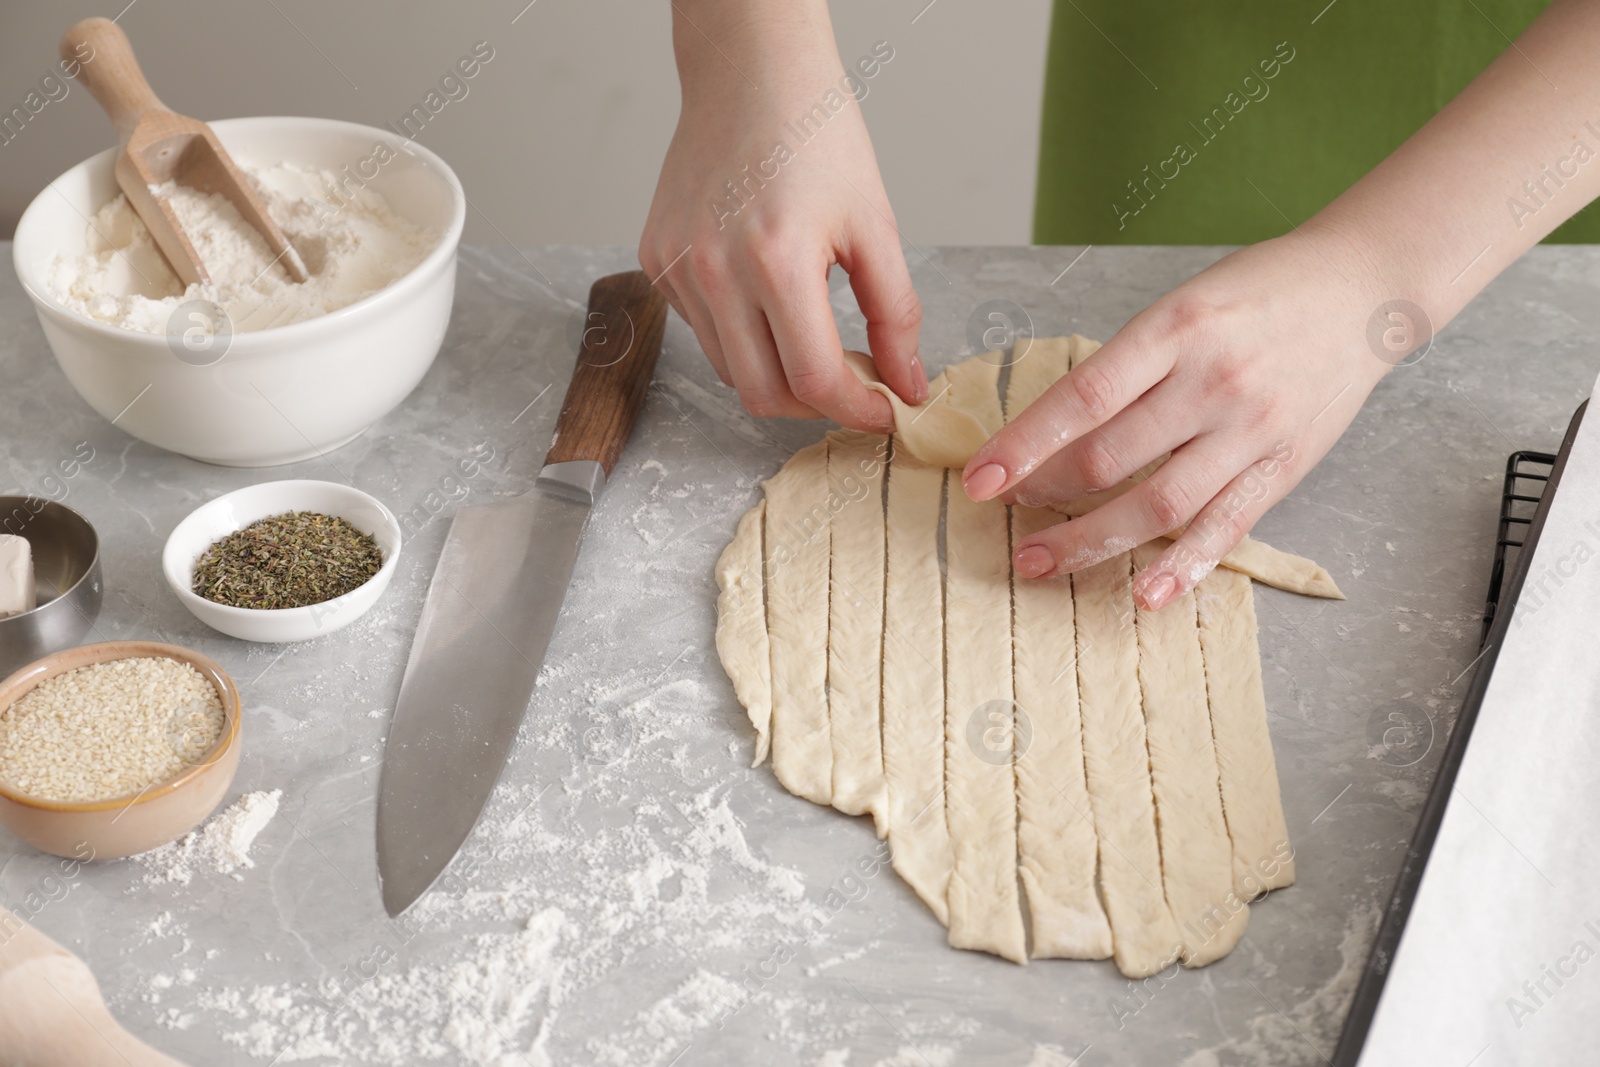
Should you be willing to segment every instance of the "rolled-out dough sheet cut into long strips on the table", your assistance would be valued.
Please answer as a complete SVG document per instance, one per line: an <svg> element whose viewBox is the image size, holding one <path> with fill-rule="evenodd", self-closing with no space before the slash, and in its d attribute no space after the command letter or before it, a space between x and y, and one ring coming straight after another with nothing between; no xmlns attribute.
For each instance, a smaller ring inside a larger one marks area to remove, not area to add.
<svg viewBox="0 0 1600 1067"><path fill-rule="evenodd" d="M1093 350L1035 342L1010 411ZM952 366L941 403L987 435L998 376ZM1037 957L1112 953L1130 977L1219 958L1256 872L1293 878L1248 577L1139 613L1130 579L1155 541L1013 581L1016 539L1058 515L974 504L904 437L886 474L866 434L797 453L718 561L717 646L757 758L800 797L870 813L952 945L1026 961L1026 894Z"/></svg>

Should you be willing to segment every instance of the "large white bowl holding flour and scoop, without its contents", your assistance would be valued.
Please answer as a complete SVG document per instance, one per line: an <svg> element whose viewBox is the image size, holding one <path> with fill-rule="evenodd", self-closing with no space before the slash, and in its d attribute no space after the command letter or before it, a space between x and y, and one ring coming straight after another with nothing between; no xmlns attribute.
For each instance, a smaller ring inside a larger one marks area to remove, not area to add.
<svg viewBox="0 0 1600 1067"><path fill-rule="evenodd" d="M238 163L349 166L355 174L374 146L389 146L395 158L366 186L395 213L438 230L438 246L381 293L320 318L237 333L221 360L195 366L174 355L166 334L78 315L45 290L50 259L80 253L85 219L117 195L115 149L107 149L53 181L22 213L16 274L67 381L126 432L229 467L310 459L392 411L432 365L450 323L466 197L443 160L414 142L400 150L384 130L328 118L211 125Z"/></svg>

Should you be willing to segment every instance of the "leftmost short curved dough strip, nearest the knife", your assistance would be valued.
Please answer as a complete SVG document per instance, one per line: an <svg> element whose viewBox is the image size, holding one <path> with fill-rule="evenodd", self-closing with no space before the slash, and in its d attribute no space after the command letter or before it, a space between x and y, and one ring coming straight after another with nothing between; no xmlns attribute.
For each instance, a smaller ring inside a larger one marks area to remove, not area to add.
<svg viewBox="0 0 1600 1067"><path fill-rule="evenodd" d="M766 758L773 720L773 664L766 641L766 598L762 589L762 522L766 501L744 514L733 541L717 560L717 656L755 728L755 758Z"/></svg>

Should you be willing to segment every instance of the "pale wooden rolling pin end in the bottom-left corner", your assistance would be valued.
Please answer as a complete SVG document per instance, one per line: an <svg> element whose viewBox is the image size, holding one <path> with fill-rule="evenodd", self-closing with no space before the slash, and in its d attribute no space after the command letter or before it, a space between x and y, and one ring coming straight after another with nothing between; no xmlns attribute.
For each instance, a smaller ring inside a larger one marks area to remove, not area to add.
<svg viewBox="0 0 1600 1067"><path fill-rule="evenodd" d="M123 1030L83 960L0 907L0 1064L184 1067Z"/></svg>

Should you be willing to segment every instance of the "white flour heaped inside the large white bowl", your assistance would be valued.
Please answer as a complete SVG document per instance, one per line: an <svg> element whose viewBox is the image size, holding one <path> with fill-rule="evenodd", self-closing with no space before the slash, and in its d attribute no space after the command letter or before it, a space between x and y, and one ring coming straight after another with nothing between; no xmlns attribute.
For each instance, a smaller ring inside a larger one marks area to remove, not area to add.
<svg viewBox="0 0 1600 1067"><path fill-rule="evenodd" d="M210 285L186 288L118 195L90 221L83 253L58 254L45 266L51 296L90 318L144 333L166 333L179 306L205 299L227 312L234 333L248 333L326 315L378 293L440 242L438 232L400 218L371 189L352 195L333 171L294 163L243 171L306 261L304 283L274 262L266 240L224 197L168 182L157 192L173 205Z"/></svg>

